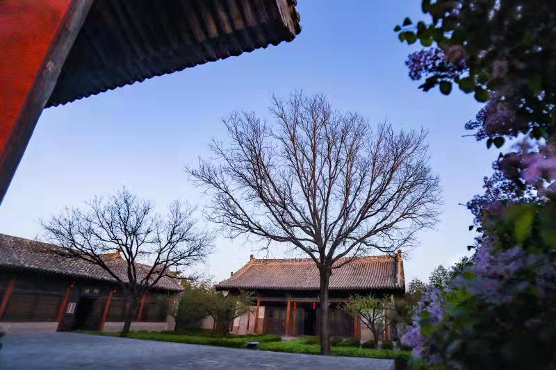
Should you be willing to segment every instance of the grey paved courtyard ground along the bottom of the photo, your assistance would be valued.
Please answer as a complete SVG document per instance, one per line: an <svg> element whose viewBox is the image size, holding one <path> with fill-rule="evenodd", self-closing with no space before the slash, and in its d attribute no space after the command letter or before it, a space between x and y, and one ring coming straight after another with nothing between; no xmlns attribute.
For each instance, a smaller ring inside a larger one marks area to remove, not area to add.
<svg viewBox="0 0 556 370"><path fill-rule="evenodd" d="M0 369L379 369L393 360L323 357L76 333L6 335Z"/></svg>

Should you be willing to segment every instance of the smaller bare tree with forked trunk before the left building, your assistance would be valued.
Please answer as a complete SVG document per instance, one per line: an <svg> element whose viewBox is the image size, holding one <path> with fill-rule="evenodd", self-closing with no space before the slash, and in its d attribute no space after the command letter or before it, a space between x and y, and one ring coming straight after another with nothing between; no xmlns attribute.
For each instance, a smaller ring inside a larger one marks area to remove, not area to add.
<svg viewBox="0 0 556 370"><path fill-rule="evenodd" d="M82 209L66 208L41 224L47 238L60 246L56 253L95 264L117 281L126 298L126 337L142 294L211 252L212 236L197 230L193 212L190 205L174 201L163 217L154 213L152 203L124 187L107 199L95 197Z"/></svg>

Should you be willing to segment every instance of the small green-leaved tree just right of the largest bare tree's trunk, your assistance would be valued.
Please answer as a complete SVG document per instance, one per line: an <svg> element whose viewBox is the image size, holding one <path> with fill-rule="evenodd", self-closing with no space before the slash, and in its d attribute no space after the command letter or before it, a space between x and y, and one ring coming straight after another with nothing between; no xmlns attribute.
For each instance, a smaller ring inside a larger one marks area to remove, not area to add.
<svg viewBox="0 0 556 370"><path fill-rule="evenodd" d="M387 330L386 312L392 309L388 299L356 295L345 303L343 309L351 317L359 317L361 323L373 333L375 348L378 348L379 338Z"/></svg>

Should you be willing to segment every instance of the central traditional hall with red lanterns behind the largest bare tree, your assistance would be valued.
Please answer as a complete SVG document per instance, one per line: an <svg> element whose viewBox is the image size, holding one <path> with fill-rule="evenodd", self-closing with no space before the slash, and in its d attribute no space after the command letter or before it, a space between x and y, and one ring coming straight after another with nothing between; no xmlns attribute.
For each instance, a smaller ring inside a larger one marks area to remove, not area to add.
<svg viewBox="0 0 556 370"><path fill-rule="evenodd" d="M340 261L341 263L342 261ZM251 259L216 289L237 294L254 292L256 306L250 314L238 317L231 333L277 335L318 335L318 269L310 259ZM330 330L336 337L355 337L365 342L373 335L356 318L348 317L341 305L354 294L385 296L392 301L404 294L402 255L355 258L334 269L329 285ZM210 326L210 323L206 323ZM386 339L391 337L386 330Z"/></svg>

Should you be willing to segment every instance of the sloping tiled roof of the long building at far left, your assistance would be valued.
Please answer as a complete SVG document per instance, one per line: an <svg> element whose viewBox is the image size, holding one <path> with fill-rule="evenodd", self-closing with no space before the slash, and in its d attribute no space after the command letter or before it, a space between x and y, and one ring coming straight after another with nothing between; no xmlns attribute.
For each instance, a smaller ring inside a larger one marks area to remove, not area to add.
<svg viewBox="0 0 556 370"><path fill-rule="evenodd" d="M56 249L59 247L53 244L0 234L0 269L27 269L76 278L116 281L113 276L96 264L78 258L65 258L53 253ZM118 276L122 280L126 280L126 262L112 258L111 263L113 263L113 271L117 271ZM146 274L149 268L146 264L138 264L139 274L141 271ZM158 280L155 288L174 292L183 290L178 278L167 276Z"/></svg>

